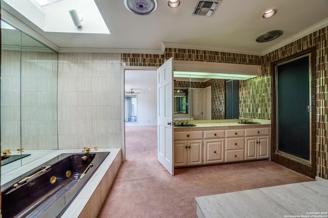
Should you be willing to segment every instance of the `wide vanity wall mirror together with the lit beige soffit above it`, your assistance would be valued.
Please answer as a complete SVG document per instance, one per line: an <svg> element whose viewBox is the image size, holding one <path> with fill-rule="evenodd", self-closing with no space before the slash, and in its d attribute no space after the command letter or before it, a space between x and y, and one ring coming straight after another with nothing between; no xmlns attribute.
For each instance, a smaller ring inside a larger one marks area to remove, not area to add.
<svg viewBox="0 0 328 218"><path fill-rule="evenodd" d="M259 76L260 70L254 65L175 61L174 119L238 119L239 81Z"/></svg>

